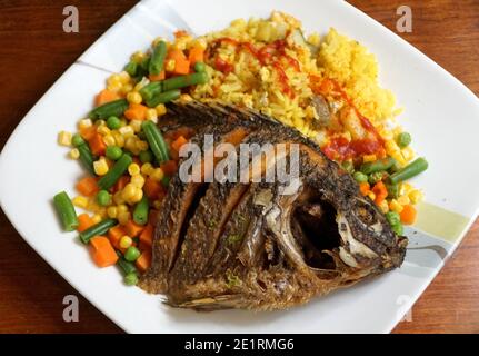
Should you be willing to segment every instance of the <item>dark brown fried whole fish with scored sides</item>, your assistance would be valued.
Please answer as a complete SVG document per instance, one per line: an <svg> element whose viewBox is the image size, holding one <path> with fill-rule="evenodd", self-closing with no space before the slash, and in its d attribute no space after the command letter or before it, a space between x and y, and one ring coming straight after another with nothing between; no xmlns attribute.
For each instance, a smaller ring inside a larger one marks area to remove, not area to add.
<svg viewBox="0 0 479 356"><path fill-rule="evenodd" d="M140 279L141 288L164 294L169 305L283 309L402 264L407 238L391 230L349 174L295 129L252 110L199 102L171 105L160 129L194 132L190 142L203 147L201 157L214 150L202 145L206 135L238 155L242 144L271 145L275 152L279 145L299 148L298 177L286 185L253 181L251 171L248 181L211 179L220 158L196 161L201 181L172 177L157 218L152 264ZM270 167L261 161L260 174L288 155L277 155Z"/></svg>

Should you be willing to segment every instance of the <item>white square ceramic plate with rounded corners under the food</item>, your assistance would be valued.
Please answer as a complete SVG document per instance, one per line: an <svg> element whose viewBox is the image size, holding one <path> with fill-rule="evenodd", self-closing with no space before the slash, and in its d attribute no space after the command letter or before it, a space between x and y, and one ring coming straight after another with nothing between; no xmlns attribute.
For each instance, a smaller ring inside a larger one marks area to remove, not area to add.
<svg viewBox="0 0 479 356"><path fill-rule="evenodd" d="M403 126L430 162L415 185L426 191L420 219L407 230L403 266L375 280L288 312L198 314L168 308L158 296L128 288L114 268L98 269L76 234L63 234L51 207L56 192L81 175L57 146L59 130L74 130L108 71L120 71L130 53L176 29L196 34L232 19L296 16L308 31L335 27L377 55L382 85L406 110ZM432 280L479 208L479 100L457 79L365 13L342 1L144 1L107 31L38 101L1 154L0 199L7 216L53 268L127 332L146 333L388 333ZM460 177L460 184L457 178ZM467 189L465 189L467 187ZM412 316L413 317L413 316Z"/></svg>

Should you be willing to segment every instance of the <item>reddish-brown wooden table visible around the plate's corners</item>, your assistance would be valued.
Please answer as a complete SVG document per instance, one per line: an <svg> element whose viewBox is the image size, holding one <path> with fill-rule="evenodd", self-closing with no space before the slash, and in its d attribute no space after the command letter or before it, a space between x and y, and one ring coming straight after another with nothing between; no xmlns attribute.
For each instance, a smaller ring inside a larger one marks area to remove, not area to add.
<svg viewBox="0 0 479 356"><path fill-rule="evenodd" d="M62 31L62 9L70 2L0 2L0 147L53 81L134 2L74 1L80 12L79 33ZM477 0L350 2L391 30L396 29L397 7L409 4L413 31L400 36L479 93ZM395 333L479 333L478 237L479 221L413 307L413 322L399 324ZM3 212L0 240L1 333L121 332L81 297L80 322L62 320L63 296L78 293L21 239Z"/></svg>

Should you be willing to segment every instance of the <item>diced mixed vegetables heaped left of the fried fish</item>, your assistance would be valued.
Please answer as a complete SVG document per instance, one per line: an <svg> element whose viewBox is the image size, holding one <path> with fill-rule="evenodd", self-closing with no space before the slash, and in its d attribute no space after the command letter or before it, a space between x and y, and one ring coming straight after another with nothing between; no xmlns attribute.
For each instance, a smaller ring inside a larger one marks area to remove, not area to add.
<svg viewBox="0 0 479 356"><path fill-rule="evenodd" d="M61 191L53 198L66 231L77 230L99 267L118 265L127 285L151 263L154 218L178 152L190 132L168 136L157 127L164 103L191 100L184 91L208 80L206 46L178 46L158 39L148 53L137 52L124 71L112 75L74 135L62 131L59 144L71 147L70 158L86 170L76 185L78 196ZM84 210L77 216L76 208Z"/></svg>

